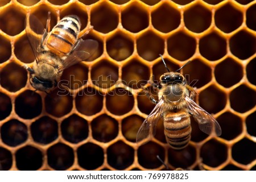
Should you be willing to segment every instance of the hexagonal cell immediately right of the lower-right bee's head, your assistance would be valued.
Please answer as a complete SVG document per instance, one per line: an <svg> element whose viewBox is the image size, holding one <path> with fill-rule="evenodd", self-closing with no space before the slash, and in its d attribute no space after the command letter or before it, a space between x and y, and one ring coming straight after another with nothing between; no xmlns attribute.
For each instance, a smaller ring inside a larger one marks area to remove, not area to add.
<svg viewBox="0 0 256 182"><path fill-rule="evenodd" d="M212 70L197 59L186 65L182 71L188 84L196 88L200 88L212 80Z"/></svg>

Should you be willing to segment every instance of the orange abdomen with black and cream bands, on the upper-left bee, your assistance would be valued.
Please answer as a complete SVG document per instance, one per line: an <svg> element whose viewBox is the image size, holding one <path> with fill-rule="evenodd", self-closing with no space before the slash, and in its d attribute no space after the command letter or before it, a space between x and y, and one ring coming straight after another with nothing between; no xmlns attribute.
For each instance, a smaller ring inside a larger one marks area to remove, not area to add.
<svg viewBox="0 0 256 182"><path fill-rule="evenodd" d="M80 31L80 20L76 15L65 16L47 38L47 47L56 55L68 54L73 50Z"/></svg>

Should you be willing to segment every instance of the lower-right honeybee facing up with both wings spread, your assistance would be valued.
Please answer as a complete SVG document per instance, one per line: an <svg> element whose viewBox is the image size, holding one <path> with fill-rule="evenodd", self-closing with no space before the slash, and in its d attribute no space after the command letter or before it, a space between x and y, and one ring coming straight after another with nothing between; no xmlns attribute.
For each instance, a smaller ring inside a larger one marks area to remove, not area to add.
<svg viewBox="0 0 256 182"><path fill-rule="evenodd" d="M162 57L162 55L160 55ZM187 84L187 80L178 71L170 72L162 57L167 73L160 76L160 85L151 83L158 89L158 101L145 89L147 96L156 104L154 109L144 120L137 133L137 143L148 142L156 133L156 124L159 119L163 119L164 134L170 146L180 150L188 145L191 139L191 122L189 115L195 118L199 124L199 129L206 134L215 132L221 135L221 127L218 122L196 104L190 97L195 90Z"/></svg>

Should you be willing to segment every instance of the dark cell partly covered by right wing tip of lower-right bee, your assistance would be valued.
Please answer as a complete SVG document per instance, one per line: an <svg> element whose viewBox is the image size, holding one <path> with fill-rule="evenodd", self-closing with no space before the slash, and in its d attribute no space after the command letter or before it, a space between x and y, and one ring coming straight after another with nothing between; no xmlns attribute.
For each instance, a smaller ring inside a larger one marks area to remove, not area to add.
<svg viewBox="0 0 256 182"><path fill-rule="evenodd" d="M226 112L217 118L221 126L221 138L232 140L242 133L241 118L232 113Z"/></svg>

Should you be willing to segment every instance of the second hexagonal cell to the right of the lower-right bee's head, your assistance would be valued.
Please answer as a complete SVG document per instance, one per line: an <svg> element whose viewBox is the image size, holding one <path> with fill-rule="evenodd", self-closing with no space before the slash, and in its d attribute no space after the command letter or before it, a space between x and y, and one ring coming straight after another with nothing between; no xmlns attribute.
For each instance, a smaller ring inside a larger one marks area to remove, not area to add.
<svg viewBox="0 0 256 182"><path fill-rule="evenodd" d="M214 75L219 84L229 88L242 79L243 68L233 59L227 58L216 65Z"/></svg>

